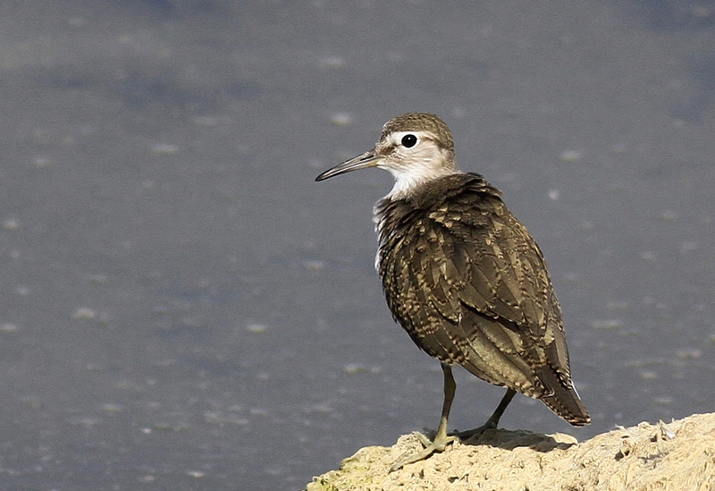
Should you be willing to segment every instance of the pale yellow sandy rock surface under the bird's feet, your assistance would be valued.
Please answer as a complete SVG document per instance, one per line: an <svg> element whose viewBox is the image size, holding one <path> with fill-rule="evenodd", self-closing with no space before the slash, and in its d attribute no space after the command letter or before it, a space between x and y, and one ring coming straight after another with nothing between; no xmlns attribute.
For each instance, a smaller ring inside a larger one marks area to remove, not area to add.
<svg viewBox="0 0 715 491"><path fill-rule="evenodd" d="M419 449L414 434L390 448L362 448L307 491L715 490L715 413L640 423L580 444L563 434L500 429L388 473L400 456Z"/></svg>

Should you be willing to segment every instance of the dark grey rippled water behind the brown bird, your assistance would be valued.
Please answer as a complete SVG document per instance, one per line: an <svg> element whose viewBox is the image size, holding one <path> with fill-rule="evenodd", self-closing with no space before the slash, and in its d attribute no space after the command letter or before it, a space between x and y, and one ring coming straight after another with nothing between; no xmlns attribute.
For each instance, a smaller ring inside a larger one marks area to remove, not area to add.
<svg viewBox="0 0 715 491"><path fill-rule="evenodd" d="M296 489L434 427L373 269L432 111L540 242L593 424L713 411L715 3L0 5L0 483ZM501 389L461 374L451 423Z"/></svg>

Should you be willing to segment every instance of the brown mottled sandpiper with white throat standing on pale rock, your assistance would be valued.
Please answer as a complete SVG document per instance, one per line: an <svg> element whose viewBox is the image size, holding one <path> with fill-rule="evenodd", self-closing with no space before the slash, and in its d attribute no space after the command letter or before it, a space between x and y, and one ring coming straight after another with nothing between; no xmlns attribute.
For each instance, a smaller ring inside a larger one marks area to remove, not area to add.
<svg viewBox="0 0 715 491"><path fill-rule="evenodd" d="M591 422L571 379L559 301L543 253L481 174L459 170L447 124L430 113L384 124L374 148L318 175L377 167L391 191L374 206L375 267L395 322L440 360L444 399L432 440L391 471L497 428L515 394L539 399L576 427ZM448 432L461 366L507 388L481 427Z"/></svg>

